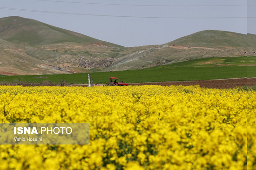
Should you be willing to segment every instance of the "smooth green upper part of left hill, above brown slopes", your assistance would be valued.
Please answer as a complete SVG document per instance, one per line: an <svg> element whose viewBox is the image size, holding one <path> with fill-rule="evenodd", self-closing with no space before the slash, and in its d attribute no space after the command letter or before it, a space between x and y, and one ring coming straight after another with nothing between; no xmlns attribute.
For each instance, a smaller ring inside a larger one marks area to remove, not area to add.
<svg viewBox="0 0 256 170"><path fill-rule="evenodd" d="M102 43L121 47L95 38L68 31L34 19L12 16L0 19L0 38L15 44L45 45L64 42Z"/></svg>

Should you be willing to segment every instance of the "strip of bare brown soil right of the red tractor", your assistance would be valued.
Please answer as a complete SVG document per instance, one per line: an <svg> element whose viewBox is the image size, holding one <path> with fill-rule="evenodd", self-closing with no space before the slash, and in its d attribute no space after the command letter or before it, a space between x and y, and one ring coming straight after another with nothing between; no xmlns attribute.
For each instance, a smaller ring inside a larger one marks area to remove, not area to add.
<svg viewBox="0 0 256 170"><path fill-rule="evenodd" d="M219 80L198 80L191 82L145 82L145 83L130 83L130 86L141 86L141 85L199 85L205 88L236 88L242 86L255 86L256 78L234 78L234 79L219 79Z"/></svg>

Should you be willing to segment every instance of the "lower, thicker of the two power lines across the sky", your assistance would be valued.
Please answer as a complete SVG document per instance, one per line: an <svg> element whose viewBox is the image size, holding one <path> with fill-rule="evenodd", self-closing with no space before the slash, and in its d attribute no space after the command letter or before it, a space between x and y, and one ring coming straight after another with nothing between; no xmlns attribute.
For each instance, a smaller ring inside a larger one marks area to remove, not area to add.
<svg viewBox="0 0 256 170"><path fill-rule="evenodd" d="M86 16L101 16L101 17L124 17L124 18L155 18L155 19L243 19L243 18L256 18L256 17L144 17L144 16L98 15L98 14L87 14L87 13L63 13L63 12L54 12L54 11L39 11L39 10L7 8L7 7L0 7L0 9L14 10L14 11L27 11L27 12L36 12L36 13L58 13L58 14L68 14L68 15L86 15Z"/></svg>

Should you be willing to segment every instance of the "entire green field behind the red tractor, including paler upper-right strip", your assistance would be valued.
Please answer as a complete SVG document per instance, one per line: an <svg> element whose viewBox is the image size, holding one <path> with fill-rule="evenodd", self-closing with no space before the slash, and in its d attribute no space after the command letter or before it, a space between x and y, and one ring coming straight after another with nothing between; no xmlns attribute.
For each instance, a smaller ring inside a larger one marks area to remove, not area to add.
<svg viewBox="0 0 256 170"><path fill-rule="evenodd" d="M256 62L256 57L217 57L189 60L179 63L151 67L147 69L90 73L94 83L108 83L109 77L118 77L123 82L168 82L211 80L239 77L256 77L256 66L246 63ZM88 74L44 75L48 78L36 79L37 76L5 76L0 82L21 80L23 82L61 82L88 83Z"/></svg>

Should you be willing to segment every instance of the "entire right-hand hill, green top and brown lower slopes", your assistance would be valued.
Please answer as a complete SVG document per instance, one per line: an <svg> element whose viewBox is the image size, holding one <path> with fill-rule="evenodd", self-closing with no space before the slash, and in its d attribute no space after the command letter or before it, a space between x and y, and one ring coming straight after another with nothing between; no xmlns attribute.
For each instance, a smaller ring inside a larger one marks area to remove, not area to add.
<svg viewBox="0 0 256 170"><path fill-rule="evenodd" d="M166 44L127 48L127 55L116 58L108 70L142 69L203 57L256 55L256 35L206 30L178 38ZM135 51L134 49L137 49Z"/></svg>

